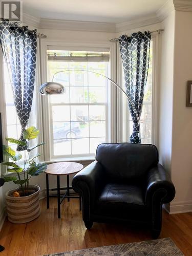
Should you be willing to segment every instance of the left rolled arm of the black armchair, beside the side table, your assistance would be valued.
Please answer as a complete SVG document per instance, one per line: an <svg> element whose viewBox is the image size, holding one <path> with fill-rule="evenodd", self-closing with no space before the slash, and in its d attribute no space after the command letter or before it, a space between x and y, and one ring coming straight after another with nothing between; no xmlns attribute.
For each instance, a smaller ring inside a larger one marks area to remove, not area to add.
<svg viewBox="0 0 192 256"><path fill-rule="evenodd" d="M74 176L72 187L77 193L81 194L82 197L83 194L84 198L88 198L89 196L89 204L93 205L104 180L104 172L101 164L94 161Z"/></svg>

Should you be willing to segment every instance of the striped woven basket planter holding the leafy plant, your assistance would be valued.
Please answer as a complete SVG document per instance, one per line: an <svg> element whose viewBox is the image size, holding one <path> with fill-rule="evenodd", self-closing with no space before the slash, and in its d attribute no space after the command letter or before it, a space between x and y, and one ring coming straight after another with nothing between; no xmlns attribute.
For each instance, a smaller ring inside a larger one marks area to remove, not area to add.
<svg viewBox="0 0 192 256"><path fill-rule="evenodd" d="M12 223L27 223L36 219L40 215L39 191L36 185L29 186L29 193L26 197L13 197L13 192L17 189L9 190L6 193L8 219Z"/></svg>

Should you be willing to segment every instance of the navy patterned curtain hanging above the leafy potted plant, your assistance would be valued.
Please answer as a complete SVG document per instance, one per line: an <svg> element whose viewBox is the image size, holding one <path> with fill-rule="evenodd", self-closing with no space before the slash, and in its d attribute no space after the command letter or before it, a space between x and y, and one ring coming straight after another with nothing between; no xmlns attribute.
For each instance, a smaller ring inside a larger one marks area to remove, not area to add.
<svg viewBox="0 0 192 256"><path fill-rule="evenodd" d="M37 35L36 30L11 26L8 22L0 25L0 43L6 60L13 89L16 113L22 126L20 140L28 124L35 82ZM18 151L26 147L17 146Z"/></svg>

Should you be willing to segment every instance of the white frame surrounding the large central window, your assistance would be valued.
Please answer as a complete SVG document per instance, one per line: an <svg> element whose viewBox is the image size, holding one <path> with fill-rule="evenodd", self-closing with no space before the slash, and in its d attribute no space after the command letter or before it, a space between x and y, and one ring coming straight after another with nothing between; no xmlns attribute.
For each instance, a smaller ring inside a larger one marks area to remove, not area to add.
<svg viewBox="0 0 192 256"><path fill-rule="evenodd" d="M109 61L109 70L111 73L111 79L116 80L116 47L113 42L63 42L63 41L52 41L48 39L41 39L40 41L40 60L41 60L41 83L47 82L48 77L48 65L47 65L47 50L69 50L69 51L101 51L104 52L106 49L110 51L110 61ZM44 138L50 138L50 111L48 105L48 97L41 96L41 104L42 104L42 132L44 134ZM116 123L116 88L111 87L111 102L110 104L110 116L111 122L108 123L108 129L106 131L110 131L111 142L116 142L116 126L111 125ZM48 118L47 118L48 117ZM108 118L108 117L106 117ZM55 156L51 155L51 143L49 139L44 139L47 142L44 145L44 160L46 162L52 161L62 161L62 160L94 160L95 156L87 155L75 155L65 157L65 156Z"/></svg>

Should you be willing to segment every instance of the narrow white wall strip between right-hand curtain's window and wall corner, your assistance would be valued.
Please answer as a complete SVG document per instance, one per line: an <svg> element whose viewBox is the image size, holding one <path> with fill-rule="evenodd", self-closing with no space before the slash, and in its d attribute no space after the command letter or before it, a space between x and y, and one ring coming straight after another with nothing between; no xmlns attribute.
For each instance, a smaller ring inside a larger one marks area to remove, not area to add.
<svg viewBox="0 0 192 256"><path fill-rule="evenodd" d="M159 70L159 158L170 172L172 157L172 112L174 77L174 30L175 11L169 13L161 23Z"/></svg>

